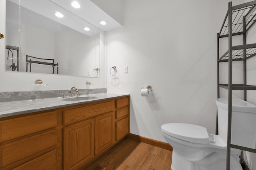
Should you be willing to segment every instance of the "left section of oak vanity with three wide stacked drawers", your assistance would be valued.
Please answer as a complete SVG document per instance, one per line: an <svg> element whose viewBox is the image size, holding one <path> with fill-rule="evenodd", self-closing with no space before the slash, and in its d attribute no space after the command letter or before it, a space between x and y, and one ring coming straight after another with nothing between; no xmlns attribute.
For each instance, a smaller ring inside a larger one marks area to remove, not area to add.
<svg viewBox="0 0 256 170"><path fill-rule="evenodd" d="M58 123L57 111L1 118L0 169L61 168Z"/></svg>

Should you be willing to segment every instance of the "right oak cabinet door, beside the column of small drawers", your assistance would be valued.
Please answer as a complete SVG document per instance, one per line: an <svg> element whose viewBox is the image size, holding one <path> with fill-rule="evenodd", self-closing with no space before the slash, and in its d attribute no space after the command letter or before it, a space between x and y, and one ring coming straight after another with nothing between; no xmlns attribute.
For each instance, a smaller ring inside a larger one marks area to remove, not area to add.
<svg viewBox="0 0 256 170"><path fill-rule="evenodd" d="M114 143L114 112L95 117L95 155Z"/></svg>

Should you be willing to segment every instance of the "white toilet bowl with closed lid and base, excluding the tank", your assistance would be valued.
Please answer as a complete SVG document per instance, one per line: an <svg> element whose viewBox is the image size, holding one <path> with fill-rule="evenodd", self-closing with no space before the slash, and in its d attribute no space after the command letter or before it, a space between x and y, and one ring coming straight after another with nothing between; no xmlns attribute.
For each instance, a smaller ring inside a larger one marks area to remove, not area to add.
<svg viewBox="0 0 256 170"><path fill-rule="evenodd" d="M205 127L167 123L161 131L172 146L172 170L225 170L226 143L220 135L208 134ZM231 149L230 169L242 170L240 150Z"/></svg>

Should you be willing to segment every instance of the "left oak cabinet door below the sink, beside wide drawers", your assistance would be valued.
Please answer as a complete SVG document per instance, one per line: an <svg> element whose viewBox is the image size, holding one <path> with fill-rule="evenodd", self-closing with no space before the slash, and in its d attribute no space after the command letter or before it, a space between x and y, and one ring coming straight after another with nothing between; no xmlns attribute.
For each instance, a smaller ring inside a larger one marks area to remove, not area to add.
<svg viewBox="0 0 256 170"><path fill-rule="evenodd" d="M94 157L94 118L64 127L64 170L80 169Z"/></svg>

